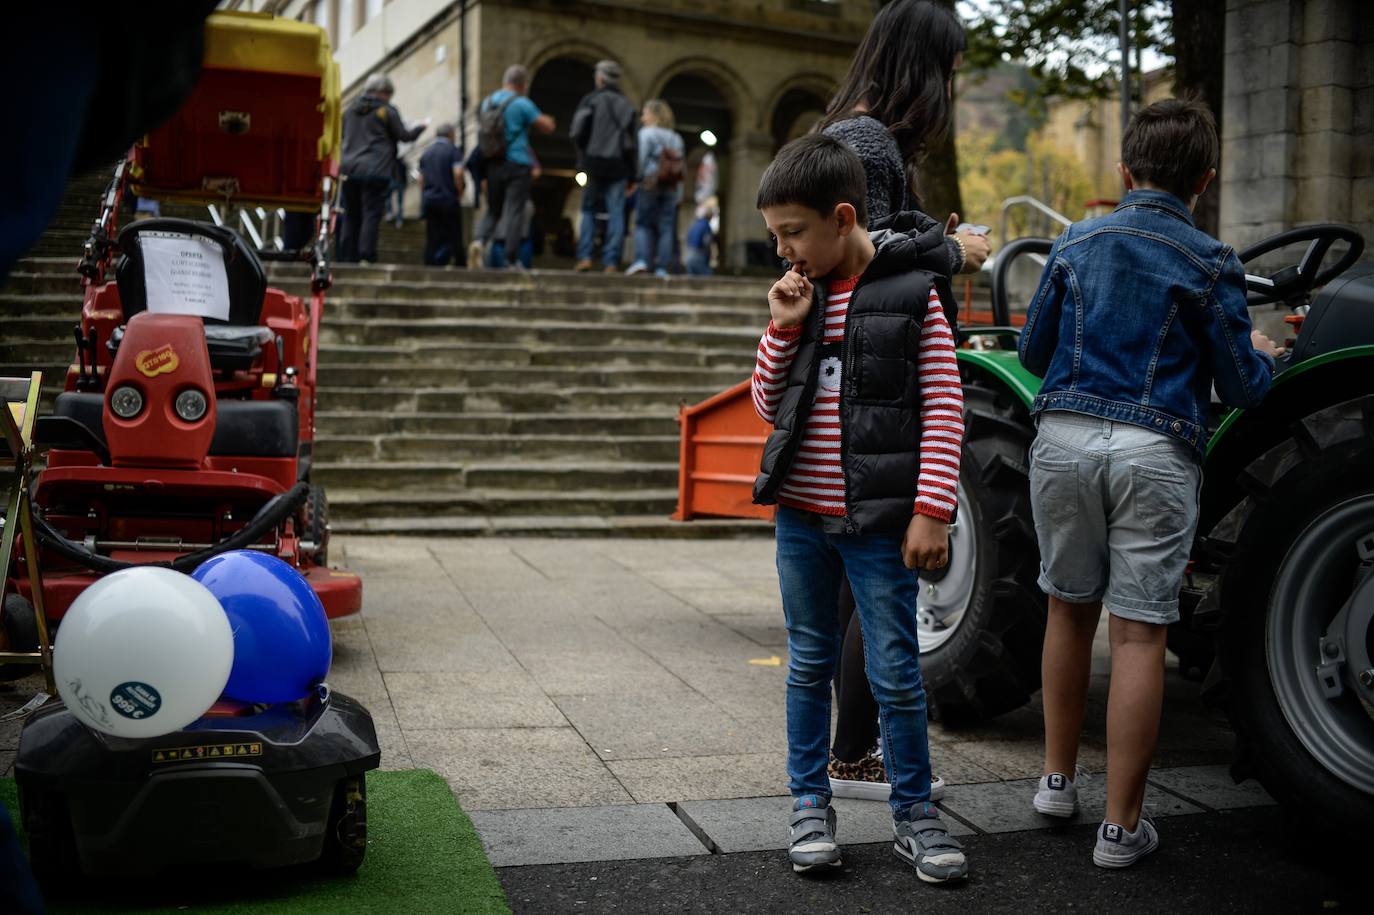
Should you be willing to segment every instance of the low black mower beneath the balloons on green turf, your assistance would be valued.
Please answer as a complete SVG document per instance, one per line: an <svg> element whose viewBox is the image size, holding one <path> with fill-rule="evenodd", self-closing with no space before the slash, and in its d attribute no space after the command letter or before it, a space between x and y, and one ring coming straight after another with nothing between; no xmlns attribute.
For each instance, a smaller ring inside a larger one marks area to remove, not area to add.
<svg viewBox="0 0 1374 915"><path fill-rule="evenodd" d="M125 877L177 864L315 861L337 787L379 762L368 710L320 687L151 739L92 731L52 702L25 724L15 779L30 835L70 837L63 844L78 859L70 864Z"/></svg>

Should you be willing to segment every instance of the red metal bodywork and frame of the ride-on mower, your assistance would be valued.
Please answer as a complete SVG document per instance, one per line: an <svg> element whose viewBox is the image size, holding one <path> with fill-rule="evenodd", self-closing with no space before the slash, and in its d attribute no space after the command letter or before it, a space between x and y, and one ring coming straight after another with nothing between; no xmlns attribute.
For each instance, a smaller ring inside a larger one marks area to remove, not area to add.
<svg viewBox="0 0 1374 915"><path fill-rule="evenodd" d="M174 559L240 530L258 508L300 479L301 458L315 440L317 341L324 293L330 286L323 257L315 262L309 306L279 289L269 287L264 295L258 324L280 338L282 357L269 343L247 370L213 375L199 319L139 315L126 321L118 286L106 278L113 276L118 254L114 239L124 194L131 184L162 188L174 196L179 190L203 192L218 180L216 176L224 176L221 190L240 192L235 199L239 203L320 207L324 224L317 227L317 243L322 251L327 250L334 221L328 198L337 184L338 162L317 155L323 117L317 107L319 85L317 76L304 78L207 67L181 111L135 146L118 168L81 262L81 334L95 345L85 348L87 371L73 364L65 382L67 392L104 394L103 422L111 462L102 464L92 451L54 448L34 486L34 504L69 540L103 543L102 555L115 561ZM251 131L232 136L220 133L223 111L250 107ZM253 148L246 148L246 143L254 144ZM125 339L118 356L113 357L107 343L121 326ZM174 378L140 376L136 365L129 368L139 353L150 349L139 343L135 326L159 328L161 337L174 331L177 339L165 341L172 342L180 359ZM188 328L198 334L194 341L185 335ZM131 339L133 352L128 349ZM297 389L294 403L300 419L294 456L207 455L213 404L201 423L184 423L170 411L169 398L192 383L192 378L195 385L209 389L212 400L273 400L282 394L289 367L298 370L290 379ZM146 404L140 422L150 414L157 415L158 422L144 422L135 429L136 425L120 423L111 415L109 392L120 383L121 375L143 389ZM359 613L363 605L360 578L350 572L319 566L304 554L300 548L302 521L302 512L287 518L254 548L297 567L320 596L330 618ZM41 562L47 615L60 620L99 574L52 550L43 551ZM16 585L32 595L25 577L16 578Z"/></svg>

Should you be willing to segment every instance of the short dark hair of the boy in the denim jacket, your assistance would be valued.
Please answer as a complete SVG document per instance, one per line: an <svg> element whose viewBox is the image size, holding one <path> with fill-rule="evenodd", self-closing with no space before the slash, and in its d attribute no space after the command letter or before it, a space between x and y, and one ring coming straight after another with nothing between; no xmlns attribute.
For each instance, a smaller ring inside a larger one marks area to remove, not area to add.
<svg viewBox="0 0 1374 915"><path fill-rule="evenodd" d="M1184 201L1208 169L1216 168L1216 118L1193 96L1162 99L1131 118L1121 137L1121 165Z"/></svg>

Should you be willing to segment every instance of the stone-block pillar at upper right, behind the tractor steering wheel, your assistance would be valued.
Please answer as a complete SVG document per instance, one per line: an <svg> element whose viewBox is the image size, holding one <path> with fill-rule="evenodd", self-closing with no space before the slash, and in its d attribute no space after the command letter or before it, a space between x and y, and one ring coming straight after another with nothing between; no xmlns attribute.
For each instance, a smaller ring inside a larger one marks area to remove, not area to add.
<svg viewBox="0 0 1374 915"><path fill-rule="evenodd" d="M1374 7L1226 5L1221 238L1348 223L1374 246Z"/></svg>

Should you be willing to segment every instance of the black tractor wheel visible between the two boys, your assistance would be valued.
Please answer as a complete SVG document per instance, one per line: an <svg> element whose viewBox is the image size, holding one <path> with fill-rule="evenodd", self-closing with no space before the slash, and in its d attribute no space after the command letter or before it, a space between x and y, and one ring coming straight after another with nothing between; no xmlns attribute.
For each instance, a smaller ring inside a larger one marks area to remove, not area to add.
<svg viewBox="0 0 1374 915"><path fill-rule="evenodd" d="M949 566L922 573L916 609L930 714L952 727L1018 709L1040 688L1046 620L1026 462L1035 430L992 387L966 383L963 396Z"/></svg>

